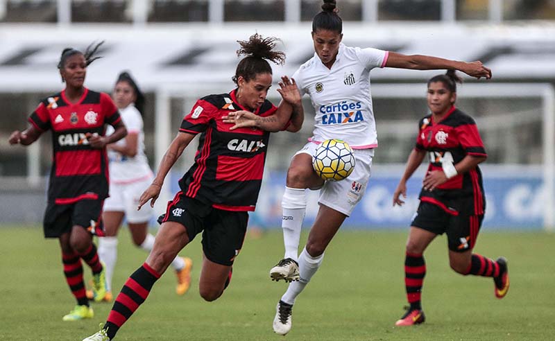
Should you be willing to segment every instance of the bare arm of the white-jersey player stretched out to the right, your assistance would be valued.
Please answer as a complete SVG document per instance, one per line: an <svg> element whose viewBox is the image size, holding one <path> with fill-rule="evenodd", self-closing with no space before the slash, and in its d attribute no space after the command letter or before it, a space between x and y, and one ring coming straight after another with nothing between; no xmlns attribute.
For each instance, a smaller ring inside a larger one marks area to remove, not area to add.
<svg viewBox="0 0 555 341"><path fill-rule="evenodd" d="M402 53L390 52L386 67L412 70L455 69L478 79L482 77L486 79L491 78L491 70L484 67L484 64L480 61L459 62L430 55L403 55Z"/></svg>

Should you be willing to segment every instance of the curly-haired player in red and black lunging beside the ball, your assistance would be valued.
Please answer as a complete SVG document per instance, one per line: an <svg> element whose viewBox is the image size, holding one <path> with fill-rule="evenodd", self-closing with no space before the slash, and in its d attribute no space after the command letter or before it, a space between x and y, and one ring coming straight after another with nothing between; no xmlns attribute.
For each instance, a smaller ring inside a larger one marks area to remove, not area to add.
<svg viewBox="0 0 555 341"><path fill-rule="evenodd" d="M249 110L258 116L268 116L282 108L291 110L291 106L296 112L302 110L297 87L285 77L278 89L283 98L280 108L266 100L272 85L272 69L267 60L282 63L285 59L284 53L273 51L275 38L255 34L239 44L237 54L246 57L232 78L237 87L229 94L205 96L196 102L183 119L153 183L139 200L139 208L148 200L153 206L170 168L200 134L194 164L179 182L181 191L159 219L162 227L151 254L126 281L101 331L84 341L112 340L144 302L171 260L201 232L204 258L200 296L214 301L230 283L232 265L246 233L247 212L254 211L262 184L270 133L251 128L231 131L222 116L235 110ZM297 131L301 124L293 119L282 128Z"/></svg>

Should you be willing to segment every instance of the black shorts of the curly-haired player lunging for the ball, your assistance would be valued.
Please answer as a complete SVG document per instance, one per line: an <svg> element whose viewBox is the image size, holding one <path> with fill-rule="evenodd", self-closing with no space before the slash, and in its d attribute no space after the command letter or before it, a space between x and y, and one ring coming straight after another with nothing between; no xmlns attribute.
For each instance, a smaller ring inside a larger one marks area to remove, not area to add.
<svg viewBox="0 0 555 341"><path fill-rule="evenodd" d="M203 252L207 259L221 265L233 265L241 251L247 230L248 213L224 211L178 192L168 202L166 213L158 222L179 222L187 229L189 241L203 232Z"/></svg>

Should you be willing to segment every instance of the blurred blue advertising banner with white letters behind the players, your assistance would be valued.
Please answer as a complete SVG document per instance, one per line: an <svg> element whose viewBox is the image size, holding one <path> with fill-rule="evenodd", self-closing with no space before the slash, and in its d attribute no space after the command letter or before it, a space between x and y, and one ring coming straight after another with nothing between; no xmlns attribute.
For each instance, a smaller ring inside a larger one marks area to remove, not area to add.
<svg viewBox="0 0 555 341"><path fill-rule="evenodd" d="M421 167L422 168L422 167ZM502 168L506 169L506 168ZM424 175L422 169L407 183L407 198L402 207L393 207L393 192L404 168L396 166L373 171L366 194L345 220L343 228L390 229L407 228L418 207L418 193ZM542 229L545 191L538 171L498 171L490 166L484 173L486 216L488 229ZM176 177L174 177L176 179ZM264 228L281 226L281 200L285 186L284 171L266 171L257 209L250 223ZM174 193L178 190L173 182ZM305 227L309 227L318 211L318 191L309 191Z"/></svg>

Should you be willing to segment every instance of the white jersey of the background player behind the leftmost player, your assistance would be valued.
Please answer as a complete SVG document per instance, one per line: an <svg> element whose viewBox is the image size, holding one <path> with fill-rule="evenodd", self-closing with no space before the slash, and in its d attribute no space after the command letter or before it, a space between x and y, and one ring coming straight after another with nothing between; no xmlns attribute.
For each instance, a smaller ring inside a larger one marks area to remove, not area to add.
<svg viewBox="0 0 555 341"><path fill-rule="evenodd" d="M138 134L137 155L129 157L121 153L108 149L108 160L110 161L110 183L130 184L145 180L152 176L148 159L144 154L144 131L141 113L135 105L130 104L125 109L119 110L121 120L126 125L128 134ZM108 125L106 135L114 132L114 128ZM117 146L125 146L126 139L116 142Z"/></svg>

